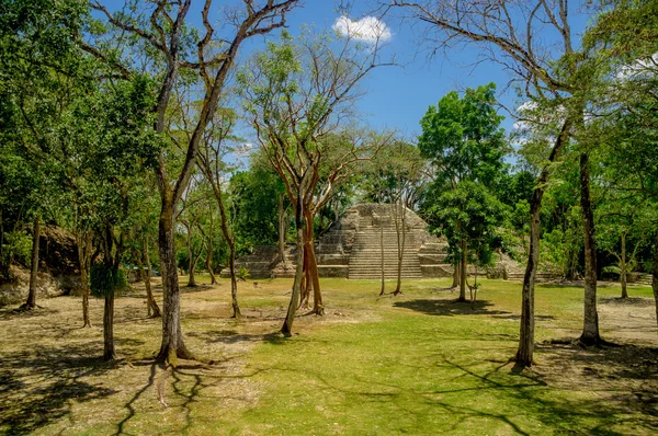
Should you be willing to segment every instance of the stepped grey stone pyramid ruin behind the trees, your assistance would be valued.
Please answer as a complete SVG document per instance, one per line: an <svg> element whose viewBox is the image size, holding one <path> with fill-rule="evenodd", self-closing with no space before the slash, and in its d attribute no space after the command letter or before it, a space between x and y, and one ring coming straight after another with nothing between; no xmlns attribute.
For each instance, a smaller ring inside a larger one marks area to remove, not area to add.
<svg viewBox="0 0 658 436"><path fill-rule="evenodd" d="M398 233L402 217L393 205L359 204L341 218L316 242L320 277L351 279L381 278L382 248L384 274L397 277ZM397 211L397 213L396 213ZM416 213L405 208L404 278L452 276L453 267L445 263L446 243L427 231L427 223ZM383 243L382 243L383 241ZM279 262L275 245L258 246L253 254L237 261L252 278L292 277L295 271L295 246L286 249L286 262ZM228 271L222 272L228 276Z"/></svg>

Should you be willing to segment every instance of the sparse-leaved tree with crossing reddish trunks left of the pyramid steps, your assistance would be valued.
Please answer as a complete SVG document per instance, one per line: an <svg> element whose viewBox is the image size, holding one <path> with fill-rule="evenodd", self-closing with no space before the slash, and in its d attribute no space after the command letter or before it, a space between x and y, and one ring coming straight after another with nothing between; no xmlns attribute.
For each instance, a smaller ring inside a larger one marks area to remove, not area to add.
<svg viewBox="0 0 658 436"><path fill-rule="evenodd" d="M351 36L303 37L294 44L284 34L281 44L270 43L239 78L259 145L295 208L297 266L282 328L286 336L292 334L303 278L305 290L314 291L313 312L324 314L314 219L349 169L372 152L373 142L345 130L342 123L359 96L358 83L379 65L378 59L377 45L360 46ZM322 172L325 162L330 164Z"/></svg>

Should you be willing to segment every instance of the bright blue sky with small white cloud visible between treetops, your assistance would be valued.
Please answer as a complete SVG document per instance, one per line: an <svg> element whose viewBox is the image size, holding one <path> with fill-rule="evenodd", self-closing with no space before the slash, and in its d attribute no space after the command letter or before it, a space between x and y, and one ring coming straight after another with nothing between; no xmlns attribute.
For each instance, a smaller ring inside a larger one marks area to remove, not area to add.
<svg viewBox="0 0 658 436"><path fill-rule="evenodd" d="M111 11L116 11L124 5L124 0L100 0ZM219 19L219 8L223 5L241 4L242 0L215 1L211 11L211 20ZM373 128L395 129L407 138L415 138L421 133L420 119L428 107L436 104L450 91L463 91L466 88L476 88L481 84L495 82L498 85L498 99L509 108L520 106L523 102L514 95L512 89L507 89L510 76L501 66L491 61L481 61L481 54L473 45L463 45L447 53L440 53L430 58L428 51L419 48L419 38L422 36L422 26L412 26L410 22L399 23L392 18L384 18L377 22L368 9L373 0L352 1L353 8L349 18L342 16L337 10L338 0L305 0L302 8L296 8L287 16L287 30L293 35L298 35L304 26L313 26L317 32L330 31L338 26L339 31L356 28L367 34L373 24L388 39L385 44L383 59L395 57L396 66L381 67L373 70L361 88L367 92L358 102L362 121ZM193 25L202 27L201 8L203 1L193 0L188 14ZM368 16L370 13L370 18ZM214 15L214 16L213 16ZM359 20L366 19L366 25L359 27ZM587 19L576 18L572 30L585 28ZM338 23L338 24L337 24ZM420 35L419 35L420 34ZM262 49L263 39L277 39L276 34L269 34L260 38L252 38L243 43L240 58L245 59L254 49ZM513 129L514 121L504 111L502 125L507 131Z"/></svg>

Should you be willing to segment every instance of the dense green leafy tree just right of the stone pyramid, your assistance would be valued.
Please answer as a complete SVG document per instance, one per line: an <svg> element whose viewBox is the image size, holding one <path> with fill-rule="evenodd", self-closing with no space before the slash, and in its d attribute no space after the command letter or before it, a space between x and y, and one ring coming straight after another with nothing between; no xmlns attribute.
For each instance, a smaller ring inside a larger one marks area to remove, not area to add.
<svg viewBox="0 0 658 436"><path fill-rule="evenodd" d="M453 237L449 242L455 269L458 268L461 274L458 301L466 301L469 234L466 221L469 218L458 210L463 204L453 202L453 194L463 182L492 185L502 173L508 148L500 127L502 117L496 113L495 90L496 85L489 83L475 90L467 89L464 97L453 91L436 106L430 106L420 122L422 134L418 147L421 154L432 161L434 192L440 193L434 200L457 207L450 214L454 228L449 232ZM434 208L431 214L436 211ZM439 226L443 226L441 220Z"/></svg>

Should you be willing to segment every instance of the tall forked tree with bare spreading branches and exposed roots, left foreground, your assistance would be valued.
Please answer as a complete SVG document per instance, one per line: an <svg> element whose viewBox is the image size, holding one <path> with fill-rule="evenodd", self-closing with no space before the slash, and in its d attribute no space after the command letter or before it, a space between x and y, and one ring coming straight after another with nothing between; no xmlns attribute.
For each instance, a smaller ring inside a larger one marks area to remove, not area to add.
<svg viewBox="0 0 658 436"><path fill-rule="evenodd" d="M155 59L149 65L156 71L155 76L160 79L157 103L152 110L156 117L154 129L158 135L164 134L168 128L170 97L177 80L180 80L180 70L196 70L203 81L200 90L203 100L198 104L198 116L182 148L185 156L183 164L168 168L164 154L160 154L155 170L161 198L158 240L163 287L162 342L157 359L173 366L177 365L178 357L193 357L185 347L180 325L180 289L174 248L175 207L192 176L200 144L215 115L219 95L225 89L229 71L235 66L238 49L245 41L282 27L286 14L298 1L246 0L241 7L226 11L226 35L219 36L215 35L215 27L208 18L212 0L206 0L201 11L205 33L198 36L196 50L191 48L193 39L196 39L195 35L189 32L188 14L191 3L191 0L162 0L145 5L144 9L135 4L128 14L112 13L98 1L91 4L104 16L110 28L134 36L135 39L128 39L133 43L133 50L147 47L147 53L155 50ZM232 30L229 31L230 28ZM124 57L117 58L104 50L104 45L103 38L94 38L90 43L81 42L83 48L105 60L120 76L133 76L135 72L127 67L134 64L133 51L125 50Z"/></svg>

